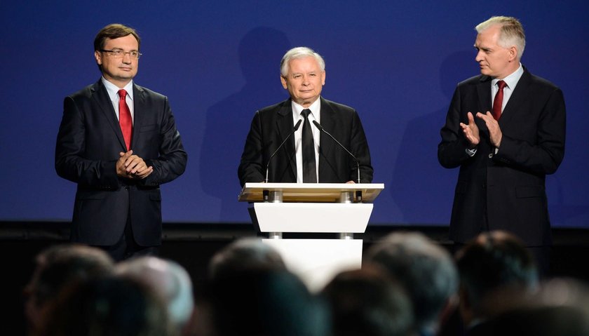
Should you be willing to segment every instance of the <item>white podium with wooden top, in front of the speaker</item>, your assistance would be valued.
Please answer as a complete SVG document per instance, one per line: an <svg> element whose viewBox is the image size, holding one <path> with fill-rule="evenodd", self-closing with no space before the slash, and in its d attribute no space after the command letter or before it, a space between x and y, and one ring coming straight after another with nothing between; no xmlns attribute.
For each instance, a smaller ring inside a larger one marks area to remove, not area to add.
<svg viewBox="0 0 589 336"><path fill-rule="evenodd" d="M252 222L269 234L264 243L316 292L340 271L362 266L363 241L353 234L366 230L371 202L383 189L379 183L246 183L238 199L252 203ZM283 233L337 238L283 238Z"/></svg>

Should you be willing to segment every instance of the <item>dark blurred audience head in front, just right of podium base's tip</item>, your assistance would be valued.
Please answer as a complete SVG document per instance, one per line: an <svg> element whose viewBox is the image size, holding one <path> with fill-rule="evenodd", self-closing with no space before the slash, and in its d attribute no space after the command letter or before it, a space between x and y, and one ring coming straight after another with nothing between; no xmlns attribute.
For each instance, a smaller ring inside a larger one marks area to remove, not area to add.
<svg viewBox="0 0 589 336"><path fill-rule="evenodd" d="M405 288L380 268L344 271L322 292L330 304L334 335L407 336L413 307Z"/></svg>

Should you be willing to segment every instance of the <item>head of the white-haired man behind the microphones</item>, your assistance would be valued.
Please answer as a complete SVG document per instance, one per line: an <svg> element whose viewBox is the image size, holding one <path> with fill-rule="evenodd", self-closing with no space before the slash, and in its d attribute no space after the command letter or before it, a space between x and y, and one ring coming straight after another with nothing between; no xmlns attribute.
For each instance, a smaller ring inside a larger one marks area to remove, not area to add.
<svg viewBox="0 0 589 336"><path fill-rule="evenodd" d="M294 102L309 107L325 85L325 61L311 48L292 48L280 61L280 82Z"/></svg>

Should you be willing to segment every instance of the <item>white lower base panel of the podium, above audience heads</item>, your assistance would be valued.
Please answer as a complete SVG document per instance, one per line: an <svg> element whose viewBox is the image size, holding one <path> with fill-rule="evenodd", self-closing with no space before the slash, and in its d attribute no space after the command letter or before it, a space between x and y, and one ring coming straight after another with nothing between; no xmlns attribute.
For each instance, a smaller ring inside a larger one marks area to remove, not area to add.
<svg viewBox="0 0 589 336"><path fill-rule="evenodd" d="M362 239L262 239L317 293L341 271L362 267Z"/></svg>

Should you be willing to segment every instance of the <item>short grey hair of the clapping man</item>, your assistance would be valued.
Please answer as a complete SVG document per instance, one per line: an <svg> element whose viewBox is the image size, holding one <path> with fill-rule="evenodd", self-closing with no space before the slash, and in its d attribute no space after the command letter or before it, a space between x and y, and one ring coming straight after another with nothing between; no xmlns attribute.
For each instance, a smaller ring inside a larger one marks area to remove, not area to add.
<svg viewBox="0 0 589 336"><path fill-rule="evenodd" d="M501 25L499 46L503 48L515 46L517 48L517 60L521 60L526 47L526 35L521 22L510 16L493 16L489 20L479 23L475 29L480 34L494 25Z"/></svg>

